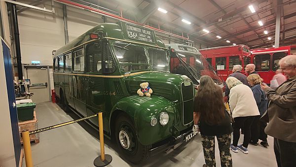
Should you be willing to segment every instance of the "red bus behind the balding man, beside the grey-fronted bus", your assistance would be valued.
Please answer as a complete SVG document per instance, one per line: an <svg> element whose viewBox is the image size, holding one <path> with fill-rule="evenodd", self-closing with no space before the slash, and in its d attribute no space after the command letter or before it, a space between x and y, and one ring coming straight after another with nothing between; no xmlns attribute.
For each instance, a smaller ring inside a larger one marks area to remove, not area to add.
<svg viewBox="0 0 296 167"><path fill-rule="evenodd" d="M250 48L243 44L212 47L198 51L217 70L218 76L222 77L224 81L232 73L233 65L240 64L245 68L251 62Z"/></svg>

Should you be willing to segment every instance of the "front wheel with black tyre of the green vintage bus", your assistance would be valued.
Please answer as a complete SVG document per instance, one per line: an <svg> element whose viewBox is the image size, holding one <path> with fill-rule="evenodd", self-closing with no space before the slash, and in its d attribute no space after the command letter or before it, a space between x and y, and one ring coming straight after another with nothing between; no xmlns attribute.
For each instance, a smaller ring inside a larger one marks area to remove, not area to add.
<svg viewBox="0 0 296 167"><path fill-rule="evenodd" d="M126 115L117 117L115 140L119 151L128 161L139 164L147 160L150 146L144 146L138 141L135 125Z"/></svg>

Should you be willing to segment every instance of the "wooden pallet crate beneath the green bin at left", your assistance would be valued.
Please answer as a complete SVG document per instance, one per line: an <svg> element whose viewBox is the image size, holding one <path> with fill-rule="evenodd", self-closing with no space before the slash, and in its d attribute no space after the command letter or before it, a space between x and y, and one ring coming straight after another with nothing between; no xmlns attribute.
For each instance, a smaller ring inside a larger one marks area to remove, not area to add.
<svg viewBox="0 0 296 167"><path fill-rule="evenodd" d="M19 122L19 131L20 133L22 130L28 129L29 131L38 129L38 121L36 118L36 112L34 111L34 119L29 121L23 121ZM30 141L31 143L39 143L39 133L31 134L30 135ZM23 138L21 137L21 144L23 144Z"/></svg>

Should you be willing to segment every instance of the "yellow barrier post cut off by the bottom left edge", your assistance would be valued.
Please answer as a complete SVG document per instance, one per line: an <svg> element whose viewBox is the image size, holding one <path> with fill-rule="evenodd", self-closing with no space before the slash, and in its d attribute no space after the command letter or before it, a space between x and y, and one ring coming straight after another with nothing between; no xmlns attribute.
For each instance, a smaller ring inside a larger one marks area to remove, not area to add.
<svg viewBox="0 0 296 167"><path fill-rule="evenodd" d="M33 167L29 130L23 130L22 137L24 142L26 167Z"/></svg>

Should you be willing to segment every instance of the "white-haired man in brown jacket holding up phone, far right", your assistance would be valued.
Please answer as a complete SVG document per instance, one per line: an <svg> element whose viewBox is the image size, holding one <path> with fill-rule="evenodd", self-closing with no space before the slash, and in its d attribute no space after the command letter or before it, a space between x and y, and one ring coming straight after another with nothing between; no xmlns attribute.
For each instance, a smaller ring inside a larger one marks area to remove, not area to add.
<svg viewBox="0 0 296 167"><path fill-rule="evenodd" d="M265 133L274 137L274 153L278 167L296 166L296 55L279 61L288 80L276 90L261 84L269 99L269 123Z"/></svg>

